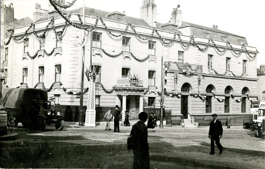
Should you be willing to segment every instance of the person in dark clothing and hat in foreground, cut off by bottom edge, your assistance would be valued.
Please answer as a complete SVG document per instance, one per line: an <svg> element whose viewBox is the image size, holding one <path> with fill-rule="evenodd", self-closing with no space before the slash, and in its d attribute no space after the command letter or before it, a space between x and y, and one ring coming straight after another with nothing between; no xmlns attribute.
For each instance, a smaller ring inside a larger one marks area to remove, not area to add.
<svg viewBox="0 0 265 169"><path fill-rule="evenodd" d="M132 127L130 136L133 137L133 168L150 168L150 159L149 159L149 146L147 142L148 131L147 127L144 124L148 117L148 114L141 112L138 115L139 121L135 123Z"/></svg>

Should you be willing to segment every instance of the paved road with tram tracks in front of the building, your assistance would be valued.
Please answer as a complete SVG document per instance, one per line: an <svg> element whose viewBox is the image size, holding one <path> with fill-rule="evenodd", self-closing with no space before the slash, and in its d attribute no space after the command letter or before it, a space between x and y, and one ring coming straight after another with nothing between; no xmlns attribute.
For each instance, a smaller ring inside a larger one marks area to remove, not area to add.
<svg viewBox="0 0 265 169"><path fill-rule="evenodd" d="M130 127L121 133L103 126L65 127L55 131L23 128L17 140L0 142L1 168L131 168L133 153L126 148ZM224 129L224 152L210 155L208 128L164 127L149 130L151 168L265 168L265 140L248 129Z"/></svg>

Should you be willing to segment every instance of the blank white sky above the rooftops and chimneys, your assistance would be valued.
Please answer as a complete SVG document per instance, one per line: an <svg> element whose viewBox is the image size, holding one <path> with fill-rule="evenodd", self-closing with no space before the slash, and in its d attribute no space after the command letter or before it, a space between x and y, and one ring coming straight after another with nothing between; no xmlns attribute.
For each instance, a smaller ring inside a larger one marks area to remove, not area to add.
<svg viewBox="0 0 265 169"><path fill-rule="evenodd" d="M5 0L13 3L14 17L33 19L35 3L48 10L48 0ZM72 0L65 0L72 2ZM265 64L265 33L263 0L154 0L157 6L157 22L167 23L173 8L180 5L182 20L193 24L212 27L246 38L248 46L257 47L257 68ZM125 11L126 16L140 18L143 0L85 0L85 6L102 11ZM77 0L69 10L82 8L83 0ZM253 55L252 55L253 56Z"/></svg>

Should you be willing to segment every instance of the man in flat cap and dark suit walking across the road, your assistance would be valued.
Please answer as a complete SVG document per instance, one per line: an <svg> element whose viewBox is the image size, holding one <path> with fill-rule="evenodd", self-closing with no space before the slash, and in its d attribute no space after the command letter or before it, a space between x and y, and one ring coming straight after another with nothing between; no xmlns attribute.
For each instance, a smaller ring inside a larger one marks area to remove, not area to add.
<svg viewBox="0 0 265 169"><path fill-rule="evenodd" d="M214 143L217 145L219 149L219 154L223 152L223 146L220 144L220 138L223 136L223 127L222 123L217 120L217 114L212 114L213 121L210 123L209 130L209 138L211 139L211 152L210 154L214 154Z"/></svg>

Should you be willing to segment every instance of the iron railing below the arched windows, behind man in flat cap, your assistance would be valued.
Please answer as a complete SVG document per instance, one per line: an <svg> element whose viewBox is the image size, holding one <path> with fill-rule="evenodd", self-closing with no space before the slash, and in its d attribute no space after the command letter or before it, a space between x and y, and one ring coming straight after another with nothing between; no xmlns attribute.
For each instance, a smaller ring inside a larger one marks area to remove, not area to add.
<svg viewBox="0 0 265 169"><path fill-rule="evenodd" d="M211 115L192 115L194 122L198 123L198 126L210 126L210 122L213 120ZM242 114L242 115L229 115L231 123L230 126L244 126L246 123L252 124L253 117L252 114ZM218 115L217 119L222 122L225 126L227 115Z"/></svg>

